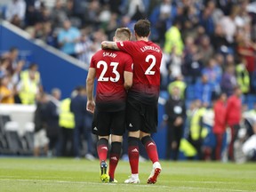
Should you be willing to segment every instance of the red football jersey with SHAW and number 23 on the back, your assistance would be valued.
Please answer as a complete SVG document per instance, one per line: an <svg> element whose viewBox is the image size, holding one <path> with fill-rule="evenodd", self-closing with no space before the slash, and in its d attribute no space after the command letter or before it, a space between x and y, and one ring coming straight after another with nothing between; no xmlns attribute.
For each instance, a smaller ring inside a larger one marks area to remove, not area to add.
<svg viewBox="0 0 256 192"><path fill-rule="evenodd" d="M132 58L129 54L100 50L92 56L90 68L96 69L96 103L125 101L124 71L132 72Z"/></svg>

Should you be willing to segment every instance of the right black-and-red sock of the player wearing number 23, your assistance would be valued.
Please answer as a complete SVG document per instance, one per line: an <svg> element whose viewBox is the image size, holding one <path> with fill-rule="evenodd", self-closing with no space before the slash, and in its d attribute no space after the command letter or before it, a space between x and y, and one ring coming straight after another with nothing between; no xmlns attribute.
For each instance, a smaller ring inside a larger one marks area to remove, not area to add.
<svg viewBox="0 0 256 192"><path fill-rule="evenodd" d="M111 143L111 150L109 156L109 177L114 179L116 166L118 164L119 158L121 154L121 142L112 142Z"/></svg>

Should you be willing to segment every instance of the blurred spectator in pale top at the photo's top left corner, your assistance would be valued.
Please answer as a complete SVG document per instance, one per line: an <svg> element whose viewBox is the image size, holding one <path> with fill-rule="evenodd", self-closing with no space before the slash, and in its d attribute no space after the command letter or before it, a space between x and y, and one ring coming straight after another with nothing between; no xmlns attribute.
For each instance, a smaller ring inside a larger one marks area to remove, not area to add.
<svg viewBox="0 0 256 192"><path fill-rule="evenodd" d="M7 4L5 19L21 27L25 19L26 3L23 0L12 0Z"/></svg>

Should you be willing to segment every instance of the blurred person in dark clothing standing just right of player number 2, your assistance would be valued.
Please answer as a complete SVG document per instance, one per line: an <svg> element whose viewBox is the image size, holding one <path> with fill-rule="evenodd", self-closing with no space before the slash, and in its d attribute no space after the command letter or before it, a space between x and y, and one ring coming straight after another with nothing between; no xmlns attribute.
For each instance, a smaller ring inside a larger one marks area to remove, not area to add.
<svg viewBox="0 0 256 192"><path fill-rule="evenodd" d="M185 102L180 98L178 86L172 87L172 95L170 95L164 108L167 119L165 158L169 160L172 157L176 161L179 157L180 140L186 117Z"/></svg>

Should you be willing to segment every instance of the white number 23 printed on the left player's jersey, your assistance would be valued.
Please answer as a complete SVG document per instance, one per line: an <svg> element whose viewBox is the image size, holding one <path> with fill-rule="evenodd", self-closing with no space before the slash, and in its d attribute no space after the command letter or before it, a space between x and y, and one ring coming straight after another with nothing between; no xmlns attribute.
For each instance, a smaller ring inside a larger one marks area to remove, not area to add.
<svg viewBox="0 0 256 192"><path fill-rule="evenodd" d="M98 81L104 81L104 82L108 82L109 79L111 82L117 82L119 79L120 79L120 74L119 72L116 70L117 69L117 66L118 66L118 62L111 62L110 63L110 66L113 66L113 69L112 69L112 73L115 74L115 78L113 78L112 76L108 77L108 76L105 76L106 75L106 72L108 70L108 63L105 62L104 60L100 60L98 63L97 63L97 68L100 68L101 66L103 66L103 69L100 73L100 76L99 76L99 79Z"/></svg>

